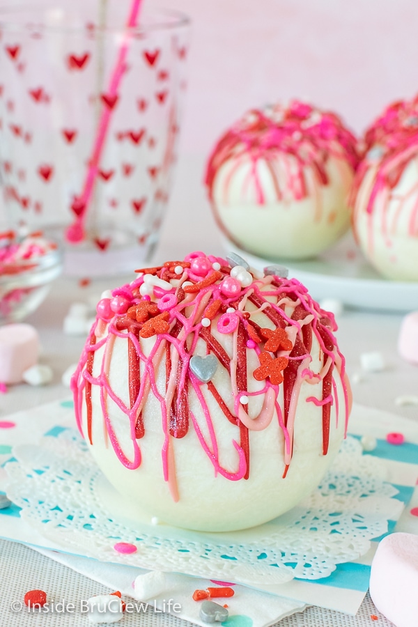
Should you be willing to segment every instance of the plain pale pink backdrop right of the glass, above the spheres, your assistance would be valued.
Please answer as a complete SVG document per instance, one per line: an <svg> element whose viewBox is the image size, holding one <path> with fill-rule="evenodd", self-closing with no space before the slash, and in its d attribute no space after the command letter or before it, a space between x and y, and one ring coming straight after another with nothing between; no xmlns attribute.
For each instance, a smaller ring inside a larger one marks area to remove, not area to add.
<svg viewBox="0 0 418 627"><path fill-rule="evenodd" d="M153 6L154 0L147 0ZM245 110L299 97L360 132L418 91L415 0L164 0L192 17L182 152Z"/></svg>

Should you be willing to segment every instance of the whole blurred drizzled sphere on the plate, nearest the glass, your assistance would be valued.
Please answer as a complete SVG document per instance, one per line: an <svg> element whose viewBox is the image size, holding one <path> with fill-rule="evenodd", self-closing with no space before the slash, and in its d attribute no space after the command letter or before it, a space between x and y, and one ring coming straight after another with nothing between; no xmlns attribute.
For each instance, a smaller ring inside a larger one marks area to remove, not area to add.
<svg viewBox="0 0 418 627"><path fill-rule="evenodd" d="M303 259L350 226L356 166L355 138L339 118L293 102L234 125L213 150L206 183L217 223L236 245Z"/></svg>

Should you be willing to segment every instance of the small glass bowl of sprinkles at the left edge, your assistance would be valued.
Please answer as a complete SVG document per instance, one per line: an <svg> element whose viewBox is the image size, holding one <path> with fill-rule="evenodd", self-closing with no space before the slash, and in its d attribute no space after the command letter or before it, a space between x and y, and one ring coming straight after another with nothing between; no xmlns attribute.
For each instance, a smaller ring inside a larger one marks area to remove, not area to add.
<svg viewBox="0 0 418 627"><path fill-rule="evenodd" d="M62 268L61 252L56 248L0 270L0 325L18 322L35 311Z"/></svg>

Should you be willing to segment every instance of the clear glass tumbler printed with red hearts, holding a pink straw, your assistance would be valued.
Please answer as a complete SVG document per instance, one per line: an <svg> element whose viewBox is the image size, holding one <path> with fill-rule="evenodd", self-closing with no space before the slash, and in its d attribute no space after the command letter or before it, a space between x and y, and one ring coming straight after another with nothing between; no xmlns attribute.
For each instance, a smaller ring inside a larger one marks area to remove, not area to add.
<svg viewBox="0 0 418 627"><path fill-rule="evenodd" d="M0 173L7 226L41 229L65 272L131 271L169 199L188 20L138 0L0 10Z"/></svg>

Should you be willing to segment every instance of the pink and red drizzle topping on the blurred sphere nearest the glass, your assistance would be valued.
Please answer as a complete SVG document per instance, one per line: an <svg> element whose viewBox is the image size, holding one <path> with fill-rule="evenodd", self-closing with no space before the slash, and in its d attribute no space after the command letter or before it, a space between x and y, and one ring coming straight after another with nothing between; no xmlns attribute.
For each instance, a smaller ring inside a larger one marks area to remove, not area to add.
<svg viewBox="0 0 418 627"><path fill-rule="evenodd" d="M251 173L243 183L242 193L254 185L257 203L262 206L266 199L257 169L259 161L268 167L277 201L284 199L286 191L295 200L302 200L309 195L308 171L315 185L329 183L326 166L331 155L337 162L348 163L353 171L359 163L356 138L331 111L319 111L298 100L288 107L277 104L264 111L248 111L219 139L208 160L205 182L215 215L215 180L226 162L231 162L231 168L221 190L224 200L227 201L235 172L250 158ZM286 171L286 187L280 184L283 176L279 175L279 163ZM316 219L320 219L318 194L314 196Z"/></svg>

